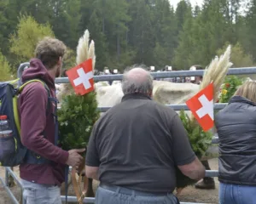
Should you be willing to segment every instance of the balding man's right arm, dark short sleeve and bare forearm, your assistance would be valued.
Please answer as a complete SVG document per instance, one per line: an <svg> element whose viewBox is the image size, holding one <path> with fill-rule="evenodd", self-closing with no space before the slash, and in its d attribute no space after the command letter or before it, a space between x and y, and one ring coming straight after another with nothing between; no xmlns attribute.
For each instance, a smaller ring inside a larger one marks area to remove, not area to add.
<svg viewBox="0 0 256 204"><path fill-rule="evenodd" d="M206 169L195 156L189 143L183 122L176 115L172 120L172 153L177 167L189 178L200 180L205 177Z"/></svg>

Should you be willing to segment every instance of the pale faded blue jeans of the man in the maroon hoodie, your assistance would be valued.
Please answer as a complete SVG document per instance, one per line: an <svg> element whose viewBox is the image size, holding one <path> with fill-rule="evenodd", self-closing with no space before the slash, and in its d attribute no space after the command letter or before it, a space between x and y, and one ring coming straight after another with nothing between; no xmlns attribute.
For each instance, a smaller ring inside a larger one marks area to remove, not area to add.
<svg viewBox="0 0 256 204"><path fill-rule="evenodd" d="M61 204L61 188L59 186L34 184L21 179L24 187L23 197L26 204Z"/></svg>

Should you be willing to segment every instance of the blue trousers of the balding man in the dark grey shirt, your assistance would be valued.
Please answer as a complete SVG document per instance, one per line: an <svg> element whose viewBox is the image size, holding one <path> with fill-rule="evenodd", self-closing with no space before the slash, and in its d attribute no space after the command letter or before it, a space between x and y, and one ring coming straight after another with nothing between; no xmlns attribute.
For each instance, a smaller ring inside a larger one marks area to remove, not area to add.
<svg viewBox="0 0 256 204"><path fill-rule="evenodd" d="M177 204L177 198L172 194L166 195L137 195L137 190L131 190L132 195L98 187L95 204Z"/></svg>

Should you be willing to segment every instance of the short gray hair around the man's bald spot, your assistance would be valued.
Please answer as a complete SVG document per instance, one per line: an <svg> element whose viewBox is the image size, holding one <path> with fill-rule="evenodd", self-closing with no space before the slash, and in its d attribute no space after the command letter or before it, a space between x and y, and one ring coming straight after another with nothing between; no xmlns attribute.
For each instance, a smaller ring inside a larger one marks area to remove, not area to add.
<svg viewBox="0 0 256 204"><path fill-rule="evenodd" d="M145 75L144 80L137 80L136 78L128 77L128 72L134 68L141 68L148 72L144 65L133 66L125 70L122 80L122 90L124 94L150 94L153 90L153 77L148 74Z"/></svg>

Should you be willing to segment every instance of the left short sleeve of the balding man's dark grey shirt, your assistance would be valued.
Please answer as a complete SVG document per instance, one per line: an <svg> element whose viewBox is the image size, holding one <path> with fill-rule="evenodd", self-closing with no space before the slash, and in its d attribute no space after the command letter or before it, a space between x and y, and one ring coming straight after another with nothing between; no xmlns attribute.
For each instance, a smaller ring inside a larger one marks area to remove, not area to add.
<svg viewBox="0 0 256 204"><path fill-rule="evenodd" d="M99 153L96 148L96 125L93 127L91 131L89 144L87 145L85 165L90 167L100 166Z"/></svg>

